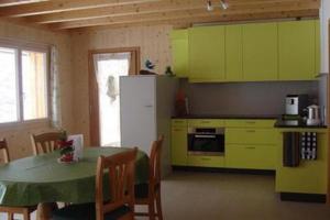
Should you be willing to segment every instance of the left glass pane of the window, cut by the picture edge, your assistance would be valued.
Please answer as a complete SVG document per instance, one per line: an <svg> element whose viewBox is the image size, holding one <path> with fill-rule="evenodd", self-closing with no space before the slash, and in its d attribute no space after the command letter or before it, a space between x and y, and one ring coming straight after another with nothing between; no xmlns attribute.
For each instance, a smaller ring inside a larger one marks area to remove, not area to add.
<svg viewBox="0 0 330 220"><path fill-rule="evenodd" d="M19 120L16 54L0 47L0 123Z"/></svg>

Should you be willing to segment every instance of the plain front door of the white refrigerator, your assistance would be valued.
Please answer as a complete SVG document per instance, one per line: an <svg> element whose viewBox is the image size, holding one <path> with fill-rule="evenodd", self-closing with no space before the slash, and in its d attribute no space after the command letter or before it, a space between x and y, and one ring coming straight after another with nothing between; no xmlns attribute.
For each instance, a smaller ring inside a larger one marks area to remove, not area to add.
<svg viewBox="0 0 330 220"><path fill-rule="evenodd" d="M121 144L150 153L156 139L156 76L120 78Z"/></svg>

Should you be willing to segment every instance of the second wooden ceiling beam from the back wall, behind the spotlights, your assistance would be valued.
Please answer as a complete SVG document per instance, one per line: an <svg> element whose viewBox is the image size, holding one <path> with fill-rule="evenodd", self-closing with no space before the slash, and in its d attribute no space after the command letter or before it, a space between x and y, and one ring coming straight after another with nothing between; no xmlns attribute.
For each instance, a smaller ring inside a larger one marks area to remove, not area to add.
<svg viewBox="0 0 330 220"><path fill-rule="evenodd" d="M319 8L318 0L268 0L268 1L229 1L229 10L235 10L239 8L254 9L261 6L263 7L276 7L283 6L293 7L296 6L297 9L310 7L310 9ZM213 1L213 4L219 2ZM194 10L194 9L206 9L205 1L200 0L180 0L180 1L162 1L162 2L144 2L135 4L124 4L114 7L103 7L96 9L85 9L76 11L66 11L59 13L50 13L42 15L34 15L26 18L28 22L34 23L56 23L56 22L67 22L67 21L78 21L88 19L100 19L100 18L112 18L122 15L133 15L133 14L144 14L152 12L168 12L168 11L179 11L179 10ZM219 9L215 9L219 10Z"/></svg>

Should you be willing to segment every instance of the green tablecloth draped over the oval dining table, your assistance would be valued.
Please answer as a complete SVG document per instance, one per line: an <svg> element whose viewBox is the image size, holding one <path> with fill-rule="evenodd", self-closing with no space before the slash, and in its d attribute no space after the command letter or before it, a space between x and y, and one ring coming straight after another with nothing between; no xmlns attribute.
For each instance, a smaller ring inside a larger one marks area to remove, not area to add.
<svg viewBox="0 0 330 220"><path fill-rule="evenodd" d="M57 163L58 152L31 156L0 166L0 205L33 206L40 202L95 201L95 176L99 155L112 155L124 147L90 147L75 164ZM146 183L147 155L139 151L135 183ZM108 178L107 178L108 179Z"/></svg>

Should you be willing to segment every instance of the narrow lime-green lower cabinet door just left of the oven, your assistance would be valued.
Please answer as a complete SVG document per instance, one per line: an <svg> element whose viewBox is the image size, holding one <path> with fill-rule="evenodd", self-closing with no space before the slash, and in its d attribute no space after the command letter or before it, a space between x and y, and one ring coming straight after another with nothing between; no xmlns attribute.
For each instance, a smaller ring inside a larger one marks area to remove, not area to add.
<svg viewBox="0 0 330 220"><path fill-rule="evenodd" d="M172 165L187 165L187 127L172 127Z"/></svg>

